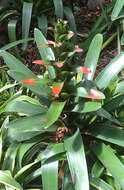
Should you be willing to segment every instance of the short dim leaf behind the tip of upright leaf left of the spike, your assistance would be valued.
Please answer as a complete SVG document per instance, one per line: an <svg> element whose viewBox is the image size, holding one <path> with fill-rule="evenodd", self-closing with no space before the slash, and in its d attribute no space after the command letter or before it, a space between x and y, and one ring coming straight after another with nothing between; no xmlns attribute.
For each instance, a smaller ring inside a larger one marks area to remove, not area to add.
<svg viewBox="0 0 124 190"><path fill-rule="evenodd" d="M45 15L41 15L38 17L38 27L41 29L43 35L47 36L47 28L48 28L48 21Z"/></svg>

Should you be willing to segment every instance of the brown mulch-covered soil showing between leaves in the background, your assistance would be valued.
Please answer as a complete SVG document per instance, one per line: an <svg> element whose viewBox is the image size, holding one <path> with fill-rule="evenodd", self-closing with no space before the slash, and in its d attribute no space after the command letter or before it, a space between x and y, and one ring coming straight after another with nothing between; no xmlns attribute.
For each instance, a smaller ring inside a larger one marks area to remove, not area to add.
<svg viewBox="0 0 124 190"><path fill-rule="evenodd" d="M105 7L111 2L111 0L105 1ZM79 5L75 5L75 7ZM83 4L78 7L78 11L74 11L74 16L77 25L77 31L80 34L89 34L94 23L97 21L99 16L102 13L102 10L97 7L96 10L89 10L87 6ZM21 39L21 37L19 38ZM84 38L79 37L79 41L85 40ZM5 44L9 43L8 34L7 34L7 23L0 24L0 47L3 47ZM27 65L33 72L39 74L38 67L32 64L32 61L38 58L37 47L34 42L29 42L27 47L27 52L24 53L21 49L21 46L18 46L19 54L21 60L25 65ZM14 54L12 49L8 50L10 53ZM97 66L97 74L107 65L115 56L117 55L117 49L109 45L104 51L101 52L100 59ZM2 57L0 57L0 67L4 66Z"/></svg>

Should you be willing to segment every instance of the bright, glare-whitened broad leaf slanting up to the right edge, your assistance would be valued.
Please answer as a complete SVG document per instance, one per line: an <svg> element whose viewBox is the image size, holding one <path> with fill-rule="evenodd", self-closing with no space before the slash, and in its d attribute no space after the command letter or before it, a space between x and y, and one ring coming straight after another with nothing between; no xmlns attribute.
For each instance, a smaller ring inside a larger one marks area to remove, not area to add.
<svg viewBox="0 0 124 190"><path fill-rule="evenodd" d="M97 76L96 83L99 89L105 89L124 68L123 59L124 53L120 53Z"/></svg>

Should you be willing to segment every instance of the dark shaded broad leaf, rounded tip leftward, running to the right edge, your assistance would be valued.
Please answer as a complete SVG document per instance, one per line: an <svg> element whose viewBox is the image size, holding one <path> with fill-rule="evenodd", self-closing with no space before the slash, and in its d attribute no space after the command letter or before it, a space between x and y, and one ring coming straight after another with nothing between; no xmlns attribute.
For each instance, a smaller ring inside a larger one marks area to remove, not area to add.
<svg viewBox="0 0 124 190"><path fill-rule="evenodd" d="M96 125L89 130L90 135L98 139L124 147L124 131L111 125Z"/></svg>

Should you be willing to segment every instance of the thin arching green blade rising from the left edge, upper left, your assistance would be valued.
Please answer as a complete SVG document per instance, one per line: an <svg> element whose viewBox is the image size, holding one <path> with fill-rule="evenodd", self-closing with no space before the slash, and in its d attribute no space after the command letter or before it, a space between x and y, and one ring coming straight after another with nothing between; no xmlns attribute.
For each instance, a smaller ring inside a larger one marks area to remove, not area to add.
<svg viewBox="0 0 124 190"><path fill-rule="evenodd" d="M8 43L7 45L3 46L0 48L0 50L8 50L10 48L13 48L19 44L23 44L25 42L28 42L28 41L33 41L34 38L27 38L27 39L23 39L23 40L17 40L15 42L11 42L11 43Z"/></svg>

